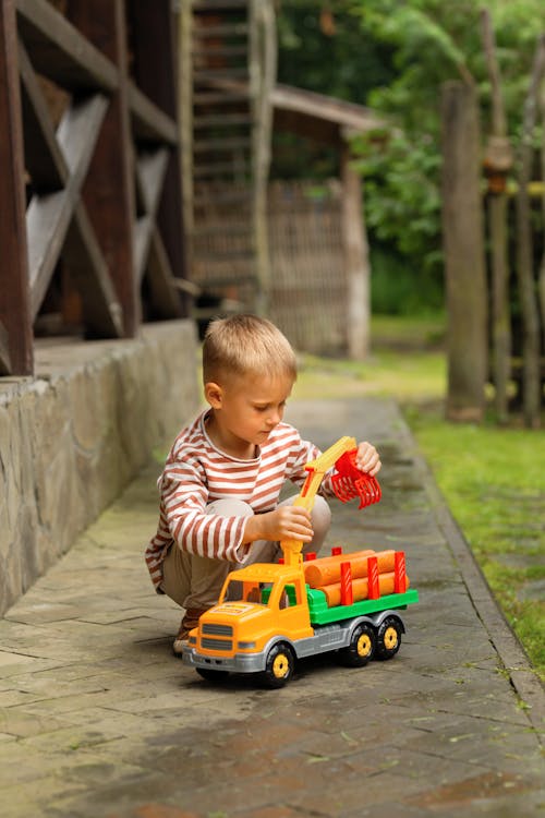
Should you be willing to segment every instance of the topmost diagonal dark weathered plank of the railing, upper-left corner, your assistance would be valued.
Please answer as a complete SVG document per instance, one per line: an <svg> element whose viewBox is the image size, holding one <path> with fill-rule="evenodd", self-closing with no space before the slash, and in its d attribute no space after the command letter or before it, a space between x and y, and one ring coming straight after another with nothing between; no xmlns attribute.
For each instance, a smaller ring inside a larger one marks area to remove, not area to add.
<svg viewBox="0 0 545 818"><path fill-rule="evenodd" d="M19 33L36 70L72 91L112 92L116 67L47 0L16 0ZM97 19L99 15L97 14Z"/></svg>

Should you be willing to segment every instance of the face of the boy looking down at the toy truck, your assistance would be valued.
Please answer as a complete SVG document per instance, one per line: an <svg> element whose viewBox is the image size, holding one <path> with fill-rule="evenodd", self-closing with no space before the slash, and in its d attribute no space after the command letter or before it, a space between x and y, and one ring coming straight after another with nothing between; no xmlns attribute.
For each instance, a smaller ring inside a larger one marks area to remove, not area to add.
<svg viewBox="0 0 545 818"><path fill-rule="evenodd" d="M214 409L208 433L227 454L254 457L282 420L293 380L289 376L238 377L220 386L205 385L206 399Z"/></svg>

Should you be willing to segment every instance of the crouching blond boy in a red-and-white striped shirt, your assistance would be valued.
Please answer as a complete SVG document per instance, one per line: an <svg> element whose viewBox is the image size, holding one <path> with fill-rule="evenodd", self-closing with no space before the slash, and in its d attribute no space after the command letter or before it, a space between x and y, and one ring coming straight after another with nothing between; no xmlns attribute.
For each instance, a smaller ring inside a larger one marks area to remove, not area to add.
<svg viewBox="0 0 545 818"><path fill-rule="evenodd" d="M295 354L280 330L254 315L214 321L203 344L204 394L209 408L183 429L159 478L157 533L146 563L158 593L185 609L173 651L215 605L228 573L254 562L276 562L280 540L318 552L330 512L317 496L308 513L279 503L286 480L302 485L304 466L319 450L282 422L296 378ZM376 474L378 453L358 448L362 471ZM320 492L331 496L330 479Z"/></svg>

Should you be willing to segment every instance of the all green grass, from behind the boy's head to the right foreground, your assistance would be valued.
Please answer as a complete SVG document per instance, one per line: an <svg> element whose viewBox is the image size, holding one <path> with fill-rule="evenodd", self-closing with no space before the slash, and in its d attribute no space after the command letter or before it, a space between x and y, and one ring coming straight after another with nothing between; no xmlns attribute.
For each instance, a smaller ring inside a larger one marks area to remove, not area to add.
<svg viewBox="0 0 545 818"><path fill-rule="evenodd" d="M393 396L506 618L545 677L545 435L447 423L441 320L379 320L356 363L301 357L296 398Z"/></svg>

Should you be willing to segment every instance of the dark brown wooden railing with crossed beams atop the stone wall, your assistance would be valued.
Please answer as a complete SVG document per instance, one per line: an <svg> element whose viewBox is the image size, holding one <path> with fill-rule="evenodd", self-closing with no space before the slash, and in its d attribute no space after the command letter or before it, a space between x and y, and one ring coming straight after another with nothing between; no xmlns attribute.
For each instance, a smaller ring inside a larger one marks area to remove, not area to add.
<svg viewBox="0 0 545 818"><path fill-rule="evenodd" d="M95 338L187 314L175 26L169 0L2 1L0 374L33 374L51 302Z"/></svg>

